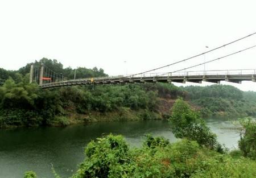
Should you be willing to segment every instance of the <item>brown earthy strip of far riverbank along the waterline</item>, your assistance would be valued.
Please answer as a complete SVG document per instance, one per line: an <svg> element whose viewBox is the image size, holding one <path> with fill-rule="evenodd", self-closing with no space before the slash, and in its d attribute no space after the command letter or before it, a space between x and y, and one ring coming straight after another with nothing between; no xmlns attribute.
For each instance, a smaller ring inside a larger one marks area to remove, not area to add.
<svg viewBox="0 0 256 178"><path fill-rule="evenodd" d="M75 107L69 107L69 109L65 110L65 114L53 115L51 119L46 119L46 122L42 124L42 118L32 118L27 121L28 124L8 124L0 117L0 128L16 128L16 127L39 127L39 126L47 126L47 127L65 127L69 125L81 125L85 123L96 123L96 122L114 122L114 121L150 121L150 120L162 120L166 121L170 118L171 108L174 105L176 100L174 99L163 99L160 98L157 106L157 110L149 111L147 109L138 109L134 110L130 107L117 107L114 111L95 111L92 110L86 114L78 113ZM193 104L192 102L187 101L189 105L191 105L195 110L202 110L202 107ZM75 106L75 104L72 104ZM71 106L72 106L71 105ZM20 112L26 113L25 110ZM17 112L16 112L17 113ZM20 113L18 113L20 115ZM15 113L13 114L15 118ZM26 117L26 115L24 116ZM213 116L204 116L204 118L214 118L214 119L222 119L222 118L233 118L233 117L247 117L247 115L230 115L224 111L219 111Z"/></svg>

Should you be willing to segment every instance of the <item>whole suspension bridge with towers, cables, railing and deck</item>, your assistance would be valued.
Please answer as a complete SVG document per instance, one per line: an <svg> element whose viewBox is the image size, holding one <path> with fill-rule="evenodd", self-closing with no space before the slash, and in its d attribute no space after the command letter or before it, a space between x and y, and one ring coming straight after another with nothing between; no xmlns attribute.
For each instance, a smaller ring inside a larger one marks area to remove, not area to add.
<svg viewBox="0 0 256 178"><path fill-rule="evenodd" d="M228 55L217 57L216 59L212 59L209 61L204 61L204 63L195 64L190 67L186 67L177 71L165 72L165 73L153 73L158 69L168 68L171 65L175 65L178 63L183 63L184 61L193 59L195 57L199 57L201 55L205 55L207 53L216 51L217 49L224 48L228 45L236 43L240 40L249 38L250 36L255 35L249 34L244 36L243 38L234 40L233 42L221 45L220 47L210 49L209 51L200 53L198 55L188 57L187 59L177 61L172 64L164 65L163 67L151 69L150 71L137 73L137 74L126 74L120 76L110 76L110 77L97 77L97 78L83 78L77 80L67 80L63 77L63 73L56 73L46 66L42 65L41 67L36 67L31 65L30 69L30 82L37 82L39 87L42 89L47 88L56 88L63 86L73 86L73 85L96 85L96 84L126 84L126 83L145 83L145 82L197 82L201 83L202 81L220 83L220 81L228 81L240 83L242 81L253 81L255 82L256 78L256 69L227 69L227 70L211 70L211 71L188 71L188 69L195 68L200 65L205 65L207 63L212 63L213 61L223 59L225 57L229 57L232 55L236 55L237 53L241 53L243 51L247 51L249 49L255 48L256 45L252 45L247 48L243 48L239 51L229 53ZM75 77L74 77L75 78Z"/></svg>

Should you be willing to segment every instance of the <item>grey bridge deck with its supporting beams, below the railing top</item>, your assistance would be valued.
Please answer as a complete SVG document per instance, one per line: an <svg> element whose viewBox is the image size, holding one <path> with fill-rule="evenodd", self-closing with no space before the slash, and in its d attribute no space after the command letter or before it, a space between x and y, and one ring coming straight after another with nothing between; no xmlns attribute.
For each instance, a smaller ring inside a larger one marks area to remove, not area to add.
<svg viewBox="0 0 256 178"><path fill-rule="evenodd" d="M39 85L40 88L56 88L61 86L73 85L92 85L92 84L125 84L125 83L144 83L144 82L197 82L202 81L220 83L220 81L236 82L254 81L255 74L203 74L203 75L177 75L177 76L127 76L127 77L106 77L106 78L85 78L78 80L68 80L51 82Z"/></svg>

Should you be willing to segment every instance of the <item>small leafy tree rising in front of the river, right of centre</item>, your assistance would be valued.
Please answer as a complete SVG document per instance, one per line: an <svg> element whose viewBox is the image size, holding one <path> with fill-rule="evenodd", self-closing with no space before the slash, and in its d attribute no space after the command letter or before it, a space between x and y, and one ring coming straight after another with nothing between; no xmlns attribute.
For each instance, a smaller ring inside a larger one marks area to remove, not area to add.
<svg viewBox="0 0 256 178"><path fill-rule="evenodd" d="M177 99L172 107L172 114L168 121L176 138L195 140L209 148L216 147L216 134L210 131L200 114L181 98Z"/></svg>

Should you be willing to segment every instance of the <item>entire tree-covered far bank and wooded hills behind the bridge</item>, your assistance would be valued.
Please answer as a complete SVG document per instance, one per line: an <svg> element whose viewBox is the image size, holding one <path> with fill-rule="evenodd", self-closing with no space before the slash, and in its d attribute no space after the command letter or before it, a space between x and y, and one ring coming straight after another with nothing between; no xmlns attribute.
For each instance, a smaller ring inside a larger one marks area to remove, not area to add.
<svg viewBox="0 0 256 178"><path fill-rule="evenodd" d="M31 64L18 71L0 69L0 127L167 119L178 97L207 117L256 114L256 92L242 92L234 86L177 87L154 83L40 89L38 84L29 83ZM47 65L71 78L75 72L70 67L63 69L57 60L43 58L34 64ZM76 78L104 76L108 74L96 67L76 69Z"/></svg>

